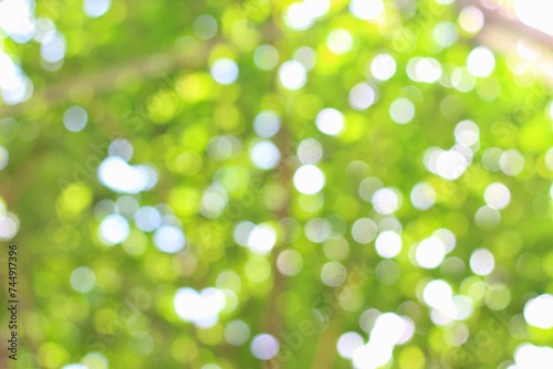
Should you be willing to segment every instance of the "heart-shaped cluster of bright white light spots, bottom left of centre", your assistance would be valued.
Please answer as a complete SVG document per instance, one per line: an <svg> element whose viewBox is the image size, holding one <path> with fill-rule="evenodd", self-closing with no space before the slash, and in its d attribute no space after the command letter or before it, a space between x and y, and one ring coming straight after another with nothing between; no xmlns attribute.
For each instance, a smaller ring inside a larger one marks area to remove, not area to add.
<svg viewBox="0 0 553 369"><path fill-rule="evenodd" d="M218 288L208 287L197 292L182 287L175 294L173 304L179 318L191 321L197 327L209 328L219 320L219 314L226 305L225 293Z"/></svg>

